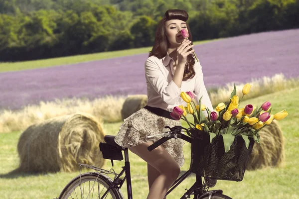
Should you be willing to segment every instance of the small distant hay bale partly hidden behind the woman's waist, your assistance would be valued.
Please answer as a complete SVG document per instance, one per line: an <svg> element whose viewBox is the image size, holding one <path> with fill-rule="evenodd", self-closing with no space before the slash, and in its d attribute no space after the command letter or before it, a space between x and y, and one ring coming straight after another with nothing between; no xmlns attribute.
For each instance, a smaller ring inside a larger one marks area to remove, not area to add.
<svg viewBox="0 0 299 199"><path fill-rule="evenodd" d="M128 96L123 104L123 108L121 110L122 119L126 119L133 113L137 112L141 108L145 107L148 103L147 95L133 95Z"/></svg>

